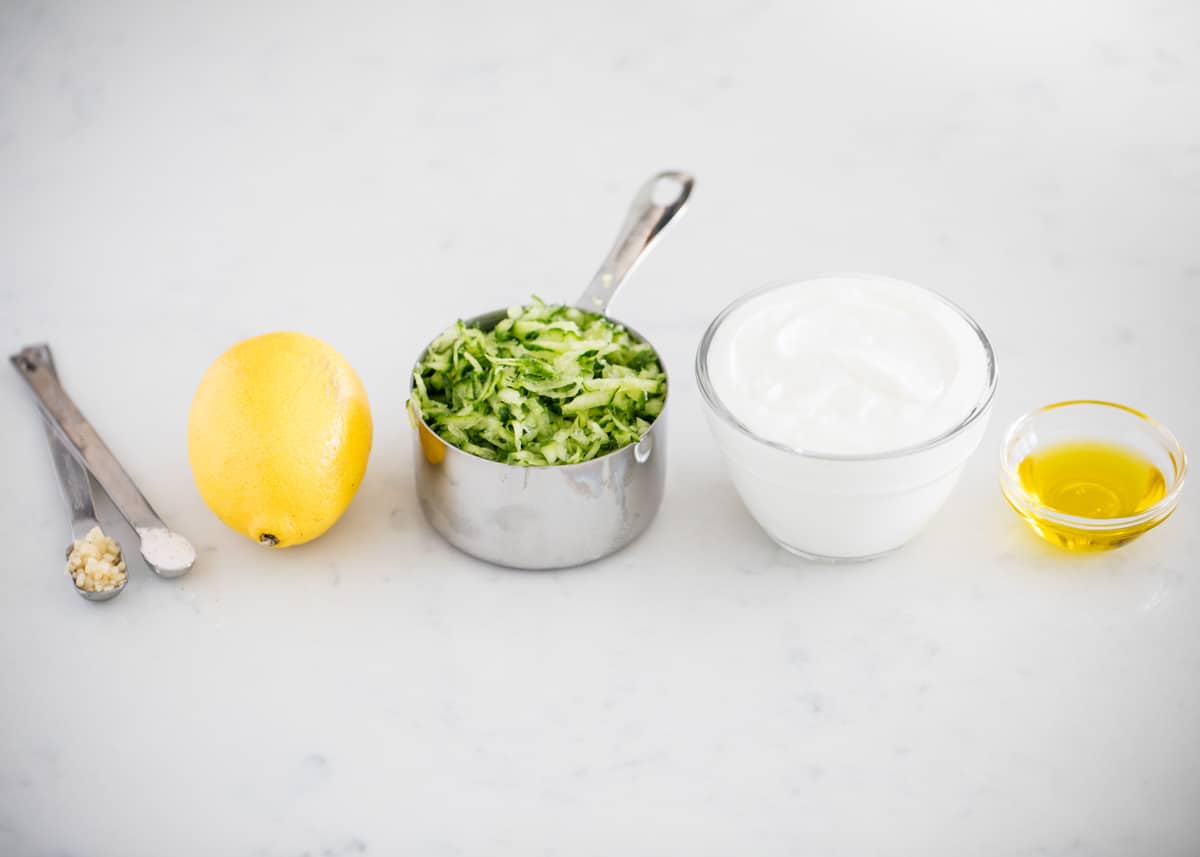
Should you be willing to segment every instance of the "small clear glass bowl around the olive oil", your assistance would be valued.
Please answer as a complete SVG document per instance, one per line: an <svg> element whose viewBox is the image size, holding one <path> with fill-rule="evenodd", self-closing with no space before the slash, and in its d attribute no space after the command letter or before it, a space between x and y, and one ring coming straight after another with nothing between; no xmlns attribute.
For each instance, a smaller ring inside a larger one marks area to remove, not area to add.
<svg viewBox="0 0 1200 857"><path fill-rule="evenodd" d="M1127 517L1082 517L1043 505L1021 485L1019 467L1030 454L1061 443L1103 443L1147 459L1163 474L1160 501ZM1180 502L1187 456L1175 435L1140 410L1079 400L1031 410L1012 425L1000 453L1001 489L1009 505L1038 535L1072 551L1121 547L1170 517Z"/></svg>

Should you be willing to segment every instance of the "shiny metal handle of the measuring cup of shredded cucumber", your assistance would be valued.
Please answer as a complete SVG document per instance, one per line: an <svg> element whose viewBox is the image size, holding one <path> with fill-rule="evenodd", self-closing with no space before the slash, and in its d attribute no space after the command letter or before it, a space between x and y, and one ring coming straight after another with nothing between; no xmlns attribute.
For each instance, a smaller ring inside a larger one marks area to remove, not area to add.
<svg viewBox="0 0 1200 857"><path fill-rule="evenodd" d="M654 239L683 211L695 184L696 180L688 173L666 170L642 185L612 250L575 301L577 307L589 312L607 311L617 289L646 256Z"/></svg>

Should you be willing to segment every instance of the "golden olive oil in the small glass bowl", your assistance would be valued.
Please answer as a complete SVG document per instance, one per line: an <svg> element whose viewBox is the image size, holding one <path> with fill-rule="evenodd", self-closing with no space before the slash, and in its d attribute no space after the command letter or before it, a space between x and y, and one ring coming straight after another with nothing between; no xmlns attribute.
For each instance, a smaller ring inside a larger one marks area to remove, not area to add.
<svg viewBox="0 0 1200 857"><path fill-rule="evenodd" d="M1150 459L1124 447L1079 441L1039 449L1016 468L1021 487L1039 507L1060 515L1104 520L1134 517L1166 496L1166 480ZM1018 509L1048 540L1076 551L1118 547L1158 523L1070 526Z"/></svg>

